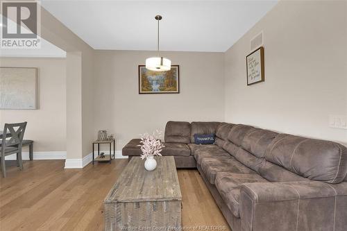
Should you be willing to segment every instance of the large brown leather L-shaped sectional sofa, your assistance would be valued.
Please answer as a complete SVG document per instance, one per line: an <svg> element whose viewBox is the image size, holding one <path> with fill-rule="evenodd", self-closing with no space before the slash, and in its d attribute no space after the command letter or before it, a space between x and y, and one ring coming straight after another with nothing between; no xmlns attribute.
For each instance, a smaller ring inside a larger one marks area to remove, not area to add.
<svg viewBox="0 0 347 231"><path fill-rule="evenodd" d="M194 134L216 134L194 144ZM162 155L197 167L237 230L347 230L347 148L242 124L169 121ZM140 155L139 139L123 155Z"/></svg>

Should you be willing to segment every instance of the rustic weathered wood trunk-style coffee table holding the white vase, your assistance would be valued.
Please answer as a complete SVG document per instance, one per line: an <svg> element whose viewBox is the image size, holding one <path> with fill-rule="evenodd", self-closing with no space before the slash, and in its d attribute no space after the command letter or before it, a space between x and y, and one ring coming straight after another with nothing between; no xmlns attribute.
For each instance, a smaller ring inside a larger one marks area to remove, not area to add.
<svg viewBox="0 0 347 231"><path fill-rule="evenodd" d="M174 157L154 171L133 157L105 198L105 230L180 230L182 195Z"/></svg>

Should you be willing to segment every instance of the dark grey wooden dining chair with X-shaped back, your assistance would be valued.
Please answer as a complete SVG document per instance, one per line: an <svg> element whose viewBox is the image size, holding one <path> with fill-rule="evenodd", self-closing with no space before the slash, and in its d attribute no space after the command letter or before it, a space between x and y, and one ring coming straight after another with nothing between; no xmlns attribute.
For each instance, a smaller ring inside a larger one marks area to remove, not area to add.
<svg viewBox="0 0 347 231"><path fill-rule="evenodd" d="M22 161L22 142L24 137L24 132L26 128L26 122L24 123L5 123L3 128L3 136L1 142L1 175L6 178L6 165L5 157L6 155L11 155L17 153L17 166L19 169L23 169ZM10 133L9 137L6 135ZM8 139L6 139L6 136Z"/></svg>

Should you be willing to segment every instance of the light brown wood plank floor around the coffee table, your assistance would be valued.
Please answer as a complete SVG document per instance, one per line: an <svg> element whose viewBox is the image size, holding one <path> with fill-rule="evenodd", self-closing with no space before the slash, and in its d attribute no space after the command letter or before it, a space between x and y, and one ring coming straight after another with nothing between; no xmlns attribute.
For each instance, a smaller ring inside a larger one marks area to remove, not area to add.
<svg viewBox="0 0 347 231"><path fill-rule="evenodd" d="M0 179L0 230L103 230L103 199L128 160L64 169L63 160L6 162ZM183 225L230 230L196 170L178 170Z"/></svg>

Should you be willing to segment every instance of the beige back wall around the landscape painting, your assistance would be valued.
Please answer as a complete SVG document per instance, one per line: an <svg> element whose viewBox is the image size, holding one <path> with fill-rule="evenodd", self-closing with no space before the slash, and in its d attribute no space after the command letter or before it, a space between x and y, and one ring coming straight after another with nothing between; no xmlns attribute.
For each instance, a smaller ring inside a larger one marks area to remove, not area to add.
<svg viewBox="0 0 347 231"><path fill-rule="evenodd" d="M138 66L148 51L96 51L94 56L94 133L117 135L117 150L132 138L165 123L223 121L223 53L164 52L180 65L180 94L138 94Z"/></svg>

